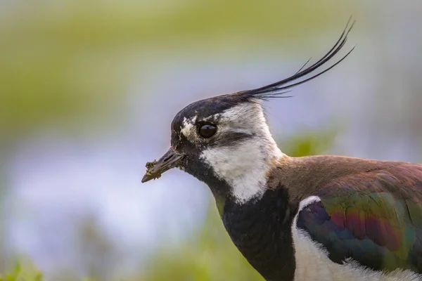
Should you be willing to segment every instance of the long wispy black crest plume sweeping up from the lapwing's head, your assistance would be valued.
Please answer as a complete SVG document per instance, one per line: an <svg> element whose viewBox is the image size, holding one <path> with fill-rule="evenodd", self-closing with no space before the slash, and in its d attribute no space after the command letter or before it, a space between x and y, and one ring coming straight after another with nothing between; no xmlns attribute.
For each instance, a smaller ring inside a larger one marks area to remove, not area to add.
<svg viewBox="0 0 422 281"><path fill-rule="evenodd" d="M286 79L277 81L267 86L262 86L257 89L240 91L240 92L234 93L233 95L239 96L241 98L247 98L247 99L257 98L260 100L267 100L269 98L289 98L290 96L283 96L283 94L290 92L291 88L298 86L300 84L304 84L307 81L310 81L312 79L315 79L316 77L319 77L319 75L324 74L328 70L331 70L331 68L335 67L335 65L338 65L345 58L347 58L347 55L350 55L350 53L352 53L352 51L354 50L354 47L350 51L348 51L345 55L343 55L343 57L340 58L340 60L338 60L336 63L334 63L330 67L326 68L325 70L321 70L317 72L316 74L313 74L311 77L306 78L307 74L313 73L315 70L319 70L320 67L328 63L328 61L330 61L343 48L343 46L345 46L346 41L347 41L347 35L349 34L350 30L352 30L352 27L355 22L353 21L352 24L350 24L351 19L352 18L350 18L347 21L347 25L345 29L343 30L343 33L341 34L338 41L335 42L335 45L331 48L331 50L328 51L326 55L324 55L321 59L316 61L316 63L314 63L313 65L310 65L309 67L305 68L305 66L311 60L309 58L309 60L307 60L305 65L300 67L300 70L298 70L298 72L296 72L295 74L293 74L292 76Z"/></svg>

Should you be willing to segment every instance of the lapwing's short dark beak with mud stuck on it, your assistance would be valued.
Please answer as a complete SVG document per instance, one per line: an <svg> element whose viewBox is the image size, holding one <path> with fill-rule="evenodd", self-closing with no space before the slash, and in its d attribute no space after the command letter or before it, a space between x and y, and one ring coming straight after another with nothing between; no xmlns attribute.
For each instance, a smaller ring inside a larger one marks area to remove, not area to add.
<svg viewBox="0 0 422 281"><path fill-rule="evenodd" d="M152 179L160 178L162 173L177 166L183 157L184 154L175 152L170 148L158 161L154 160L153 162L146 163L147 170L141 182L146 183Z"/></svg>

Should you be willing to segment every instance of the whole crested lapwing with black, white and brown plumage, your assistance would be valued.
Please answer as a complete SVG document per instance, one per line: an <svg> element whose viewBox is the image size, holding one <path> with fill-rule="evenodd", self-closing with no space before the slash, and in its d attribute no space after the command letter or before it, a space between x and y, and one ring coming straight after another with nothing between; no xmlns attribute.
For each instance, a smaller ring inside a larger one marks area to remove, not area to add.
<svg viewBox="0 0 422 281"><path fill-rule="evenodd" d="M175 167L205 183L231 241L267 281L422 280L422 164L290 157L264 115L265 102L350 55L332 63L353 24L286 79L184 107L169 150L146 164L142 183Z"/></svg>

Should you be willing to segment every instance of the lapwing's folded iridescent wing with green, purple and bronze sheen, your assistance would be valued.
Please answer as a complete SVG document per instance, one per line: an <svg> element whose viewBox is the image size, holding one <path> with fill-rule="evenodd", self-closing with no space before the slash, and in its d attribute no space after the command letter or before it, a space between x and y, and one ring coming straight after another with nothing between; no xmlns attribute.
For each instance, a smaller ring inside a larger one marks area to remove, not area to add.
<svg viewBox="0 0 422 281"><path fill-rule="evenodd" d="M315 195L321 201L300 211L297 226L332 261L422 273L422 165L338 178Z"/></svg>

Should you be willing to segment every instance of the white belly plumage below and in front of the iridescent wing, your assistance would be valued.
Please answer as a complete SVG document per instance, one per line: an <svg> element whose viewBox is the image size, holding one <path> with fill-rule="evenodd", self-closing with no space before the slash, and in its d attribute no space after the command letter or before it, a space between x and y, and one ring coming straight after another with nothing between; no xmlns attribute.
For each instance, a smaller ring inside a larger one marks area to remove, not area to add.
<svg viewBox="0 0 422 281"><path fill-rule="evenodd" d="M347 260L343 264L333 263L328 258L324 247L314 242L302 229L297 227L300 211L314 202L319 202L318 196L310 196L299 204L292 225L293 246L295 247L295 281L417 281L422 275L411 270L395 270L391 273L382 273L360 266L357 261Z"/></svg>

